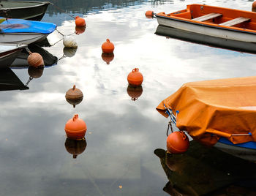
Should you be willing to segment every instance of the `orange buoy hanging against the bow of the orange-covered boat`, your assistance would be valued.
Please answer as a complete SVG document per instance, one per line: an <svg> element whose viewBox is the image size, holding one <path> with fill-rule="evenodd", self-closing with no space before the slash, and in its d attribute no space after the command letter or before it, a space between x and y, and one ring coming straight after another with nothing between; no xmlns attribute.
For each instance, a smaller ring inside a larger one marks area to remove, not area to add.
<svg viewBox="0 0 256 196"><path fill-rule="evenodd" d="M167 137L167 151L173 154L180 154L189 148L189 137L183 132L172 132Z"/></svg>

